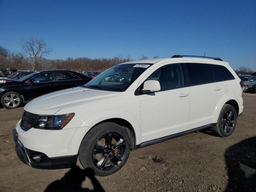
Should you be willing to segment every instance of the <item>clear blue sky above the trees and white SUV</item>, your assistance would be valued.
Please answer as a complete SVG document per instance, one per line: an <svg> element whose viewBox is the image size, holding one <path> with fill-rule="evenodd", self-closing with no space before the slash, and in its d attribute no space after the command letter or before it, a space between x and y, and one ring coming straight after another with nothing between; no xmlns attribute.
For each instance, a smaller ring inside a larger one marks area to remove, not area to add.
<svg viewBox="0 0 256 192"><path fill-rule="evenodd" d="M0 45L42 38L47 58L214 56L256 70L256 0L0 0Z"/></svg>

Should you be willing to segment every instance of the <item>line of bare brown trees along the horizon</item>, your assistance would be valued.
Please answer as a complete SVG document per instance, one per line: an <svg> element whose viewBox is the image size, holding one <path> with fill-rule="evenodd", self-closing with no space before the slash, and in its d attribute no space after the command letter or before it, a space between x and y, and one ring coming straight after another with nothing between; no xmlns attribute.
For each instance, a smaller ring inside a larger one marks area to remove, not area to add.
<svg viewBox="0 0 256 192"><path fill-rule="evenodd" d="M0 46L0 65L17 70L72 70L72 71L94 71L102 72L116 64L133 60L128 56L115 56L114 58L95 58L88 57L66 58L63 59L46 59L45 56L52 50L48 48L44 40L31 38L21 41L22 51L18 53L10 52ZM159 58L154 56L154 58ZM148 59L142 55L140 59ZM250 68L240 66L236 72L252 73Z"/></svg>

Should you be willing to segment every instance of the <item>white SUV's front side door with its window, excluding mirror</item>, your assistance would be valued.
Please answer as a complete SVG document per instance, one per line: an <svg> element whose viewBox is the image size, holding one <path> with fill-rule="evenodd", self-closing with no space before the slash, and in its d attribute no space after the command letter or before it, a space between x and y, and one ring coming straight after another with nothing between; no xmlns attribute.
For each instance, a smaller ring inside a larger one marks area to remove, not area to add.
<svg viewBox="0 0 256 192"><path fill-rule="evenodd" d="M190 89L185 87L180 64L164 64L148 76L161 90L140 94L142 142L188 130Z"/></svg>

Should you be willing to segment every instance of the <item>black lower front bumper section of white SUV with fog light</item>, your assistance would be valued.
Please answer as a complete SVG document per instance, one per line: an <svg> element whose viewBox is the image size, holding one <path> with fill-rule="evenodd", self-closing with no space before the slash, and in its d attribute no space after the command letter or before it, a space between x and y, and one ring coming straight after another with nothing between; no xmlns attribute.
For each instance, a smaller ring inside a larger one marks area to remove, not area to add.
<svg viewBox="0 0 256 192"><path fill-rule="evenodd" d="M38 169L61 169L70 168L76 165L77 155L60 156L49 158L42 152L33 151L25 148L18 139L18 132L13 129L15 150L18 158L25 164Z"/></svg>

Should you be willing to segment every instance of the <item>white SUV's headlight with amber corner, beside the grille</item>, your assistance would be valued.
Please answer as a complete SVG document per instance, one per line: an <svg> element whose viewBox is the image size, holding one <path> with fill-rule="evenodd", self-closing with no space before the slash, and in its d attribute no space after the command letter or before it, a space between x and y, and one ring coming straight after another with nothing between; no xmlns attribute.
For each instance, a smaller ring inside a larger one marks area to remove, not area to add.
<svg viewBox="0 0 256 192"><path fill-rule="evenodd" d="M74 113L64 115L40 115L33 127L37 129L58 130L64 128L68 122L74 117Z"/></svg>

